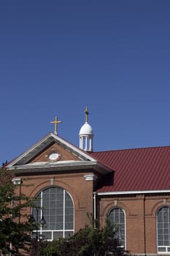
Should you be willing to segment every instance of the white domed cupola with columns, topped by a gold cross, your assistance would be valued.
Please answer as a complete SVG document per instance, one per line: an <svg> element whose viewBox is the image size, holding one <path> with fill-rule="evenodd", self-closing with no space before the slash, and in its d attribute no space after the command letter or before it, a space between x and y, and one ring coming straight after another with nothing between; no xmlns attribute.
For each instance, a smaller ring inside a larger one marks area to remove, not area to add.
<svg viewBox="0 0 170 256"><path fill-rule="evenodd" d="M88 107L85 108L85 124L79 132L80 148L85 151L93 151L93 128L88 124Z"/></svg>

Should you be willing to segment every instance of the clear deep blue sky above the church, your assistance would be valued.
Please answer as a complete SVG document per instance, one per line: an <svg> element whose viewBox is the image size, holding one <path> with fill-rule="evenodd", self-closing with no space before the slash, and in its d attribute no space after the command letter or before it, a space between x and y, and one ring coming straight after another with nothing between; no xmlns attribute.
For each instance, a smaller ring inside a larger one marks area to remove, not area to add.
<svg viewBox="0 0 170 256"><path fill-rule="evenodd" d="M0 1L0 165L53 132L94 151L170 145L170 1Z"/></svg>

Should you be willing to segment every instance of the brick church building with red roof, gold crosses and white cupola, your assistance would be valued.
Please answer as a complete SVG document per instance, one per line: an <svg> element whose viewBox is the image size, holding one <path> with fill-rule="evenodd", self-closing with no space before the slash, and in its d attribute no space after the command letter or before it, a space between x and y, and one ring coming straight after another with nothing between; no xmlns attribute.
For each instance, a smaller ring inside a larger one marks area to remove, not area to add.
<svg viewBox="0 0 170 256"><path fill-rule="evenodd" d="M170 146L93 151L93 128L85 124L80 146L55 131L7 164L22 192L41 208L27 209L40 225L38 237L52 241L108 217L131 255L170 255ZM36 233L37 234L37 233Z"/></svg>

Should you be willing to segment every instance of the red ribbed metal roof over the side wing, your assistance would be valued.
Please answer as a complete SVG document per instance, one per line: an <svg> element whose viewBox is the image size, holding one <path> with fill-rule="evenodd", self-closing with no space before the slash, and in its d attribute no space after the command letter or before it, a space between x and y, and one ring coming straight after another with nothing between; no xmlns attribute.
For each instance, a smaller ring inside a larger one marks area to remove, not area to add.
<svg viewBox="0 0 170 256"><path fill-rule="evenodd" d="M99 162L112 168L98 192L170 189L170 146L93 152Z"/></svg>

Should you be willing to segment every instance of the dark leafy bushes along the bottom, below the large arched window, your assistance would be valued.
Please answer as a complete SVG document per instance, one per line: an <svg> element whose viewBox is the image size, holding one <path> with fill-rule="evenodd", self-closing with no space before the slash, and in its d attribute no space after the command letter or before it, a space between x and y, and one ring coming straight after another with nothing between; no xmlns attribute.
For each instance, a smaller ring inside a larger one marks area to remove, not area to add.
<svg viewBox="0 0 170 256"><path fill-rule="evenodd" d="M85 226L69 239L41 241L41 256L121 256L124 249L115 236L114 225L106 221L104 228Z"/></svg>

